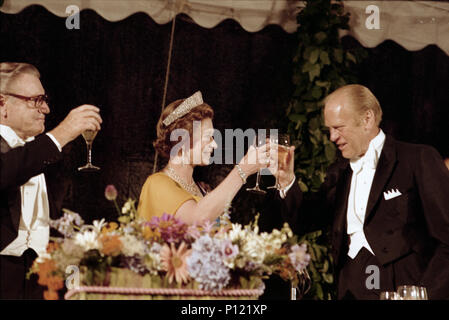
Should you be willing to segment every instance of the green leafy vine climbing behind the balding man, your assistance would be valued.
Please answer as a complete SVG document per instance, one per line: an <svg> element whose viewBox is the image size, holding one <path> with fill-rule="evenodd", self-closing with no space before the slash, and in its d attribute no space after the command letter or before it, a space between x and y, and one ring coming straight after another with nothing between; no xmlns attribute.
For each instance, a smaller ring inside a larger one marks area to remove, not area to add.
<svg viewBox="0 0 449 320"><path fill-rule="evenodd" d="M349 29L349 13L344 13L342 1L306 1L297 22L295 90L286 117L287 131L296 146L296 177L307 199L309 192L319 190L328 166L336 157L335 145L324 126L323 99L335 89L356 82L352 70L366 53L345 49L340 41L339 30ZM335 295L327 231L309 233L302 239L308 243L312 257L308 270L313 284L305 298L322 300Z"/></svg>

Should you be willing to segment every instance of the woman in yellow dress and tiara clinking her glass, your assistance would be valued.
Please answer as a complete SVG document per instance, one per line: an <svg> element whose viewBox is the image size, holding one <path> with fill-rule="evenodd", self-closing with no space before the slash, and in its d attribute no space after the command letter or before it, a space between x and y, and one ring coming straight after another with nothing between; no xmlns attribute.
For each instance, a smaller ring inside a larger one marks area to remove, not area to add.
<svg viewBox="0 0 449 320"><path fill-rule="evenodd" d="M153 145L168 163L145 181L138 205L140 218L151 220L167 213L188 224L214 221L245 184L246 177L268 166L268 146L250 147L228 176L206 194L194 181L193 169L208 165L212 151L217 148L213 116L212 108L203 102L199 91L164 109ZM258 161L249 161L256 158Z"/></svg>

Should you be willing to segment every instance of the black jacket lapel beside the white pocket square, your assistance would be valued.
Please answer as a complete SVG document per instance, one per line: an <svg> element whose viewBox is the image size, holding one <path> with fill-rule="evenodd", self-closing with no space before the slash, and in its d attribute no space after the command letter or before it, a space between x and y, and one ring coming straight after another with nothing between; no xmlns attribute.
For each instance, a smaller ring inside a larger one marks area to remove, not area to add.
<svg viewBox="0 0 449 320"><path fill-rule="evenodd" d="M365 224L369 221L374 213L374 206L383 196L385 185L387 184L393 169L396 166L396 147L395 141L391 136L386 136L385 144L377 164L376 173L374 174L373 184L366 206Z"/></svg>

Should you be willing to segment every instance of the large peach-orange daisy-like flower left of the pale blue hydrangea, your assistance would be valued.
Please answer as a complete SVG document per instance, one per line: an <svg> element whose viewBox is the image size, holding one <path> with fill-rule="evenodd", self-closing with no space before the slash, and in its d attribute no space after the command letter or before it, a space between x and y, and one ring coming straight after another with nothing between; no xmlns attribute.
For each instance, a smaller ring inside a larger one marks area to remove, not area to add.
<svg viewBox="0 0 449 320"><path fill-rule="evenodd" d="M189 272L187 271L186 259L191 251L192 249L187 249L185 242L182 242L178 249L175 248L174 243L171 243L171 247L164 244L160 255L163 270L167 271L169 283L173 282L173 278L177 283L188 282Z"/></svg>

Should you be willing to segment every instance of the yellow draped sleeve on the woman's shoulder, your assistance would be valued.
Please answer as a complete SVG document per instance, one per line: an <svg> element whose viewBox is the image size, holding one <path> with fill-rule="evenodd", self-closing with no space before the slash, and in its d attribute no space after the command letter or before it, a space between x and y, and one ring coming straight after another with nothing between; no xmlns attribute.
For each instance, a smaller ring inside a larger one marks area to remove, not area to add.
<svg viewBox="0 0 449 320"><path fill-rule="evenodd" d="M198 202L199 198L188 193L166 174L158 172L149 176L142 187L137 215L146 221L160 217L164 212L174 215L188 200Z"/></svg>

